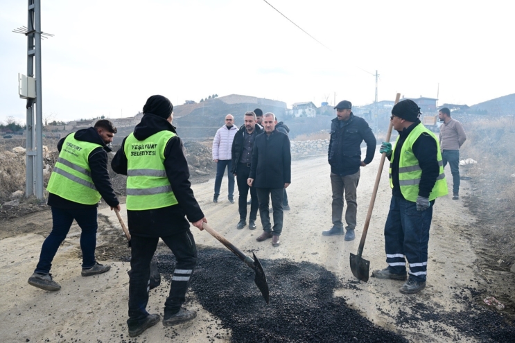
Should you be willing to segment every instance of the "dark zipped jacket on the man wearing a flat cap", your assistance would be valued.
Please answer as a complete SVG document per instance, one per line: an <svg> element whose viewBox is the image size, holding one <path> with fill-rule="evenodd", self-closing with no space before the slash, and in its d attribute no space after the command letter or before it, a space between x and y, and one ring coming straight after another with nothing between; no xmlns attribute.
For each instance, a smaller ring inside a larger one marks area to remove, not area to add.
<svg viewBox="0 0 515 343"><path fill-rule="evenodd" d="M340 127L342 123L342 127ZM331 140L327 157L331 165L331 173L341 176L358 173L361 165L361 142L367 143L367 156L363 160L369 164L374 159L376 137L365 119L351 116L347 121L331 121Z"/></svg>

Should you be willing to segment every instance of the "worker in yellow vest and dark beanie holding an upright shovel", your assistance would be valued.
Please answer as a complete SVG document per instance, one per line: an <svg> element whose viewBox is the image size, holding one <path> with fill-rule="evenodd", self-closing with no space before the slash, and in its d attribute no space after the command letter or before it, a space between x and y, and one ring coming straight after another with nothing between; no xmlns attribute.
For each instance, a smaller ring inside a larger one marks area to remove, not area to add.
<svg viewBox="0 0 515 343"><path fill-rule="evenodd" d="M400 289L414 294L426 287L429 227L435 199L447 194L438 139L419 120L420 108L412 100L402 100L392 109L392 125L399 137L383 142L379 152L390 159L392 200L385 224L385 250L388 267L375 270L378 279L408 281ZM393 152L393 153L392 153Z"/></svg>

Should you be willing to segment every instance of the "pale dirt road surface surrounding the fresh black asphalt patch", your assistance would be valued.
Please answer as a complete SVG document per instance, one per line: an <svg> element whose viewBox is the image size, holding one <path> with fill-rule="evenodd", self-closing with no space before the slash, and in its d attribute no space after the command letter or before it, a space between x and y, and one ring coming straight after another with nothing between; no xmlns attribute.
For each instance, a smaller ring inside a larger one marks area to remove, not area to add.
<svg viewBox="0 0 515 343"><path fill-rule="evenodd" d="M353 278L349 253L356 254L358 249L378 161L376 156L372 164L361 168L357 239L352 242L344 242L342 236L321 235L322 230L331 227L331 186L326 157L293 162L293 180L288 188L291 210L285 212L280 247L272 247L270 240L256 242L256 237L261 234L259 217L258 229L236 229L238 205L227 201L227 193L224 193L227 192L226 179L217 204L211 202L213 179L194 185L193 189L211 227L234 245L244 252L254 252L259 258L288 258L322 265L344 284L335 290L335 297L344 297L351 308L375 324L400 333L413 342L477 341L478 335L467 333L467 321L471 317L488 316L491 312L471 305L473 293L481 288L483 281L478 277L481 271L474 265L476 256L469 240L462 234L474 222L463 202L453 201L447 196L435 204L429 242L428 283L420 294L405 296L399 293L401 281L371 278L368 283L360 283ZM462 197L466 197L467 187L463 182ZM385 168L363 252L363 257L371 262L371 271L385 267L383 225L390 196ZM164 328L157 324L137 339L128 340L125 320L127 270L130 266L120 262L121 255L128 256L128 249L114 213L109 209L102 209L99 213L101 227L97 256L111 263L112 270L89 278L80 276L80 230L73 225L53 263L53 276L62 285L59 292L44 292L26 283L37 263L44 236L51 227L49 211L10 223L20 227L19 232L28 233L4 234L0 240L2 342L75 342L79 339L82 342L159 342L165 337L175 338L177 342L229 340L231 332L220 328L218 319L195 301L191 306L199 310L199 316L193 323L177 328ZM125 208L122 213L125 213ZM221 247L207 232L195 228L192 231L199 247ZM152 291L149 312L163 313L167 292L167 284ZM189 297L194 299L195 294L190 292Z"/></svg>

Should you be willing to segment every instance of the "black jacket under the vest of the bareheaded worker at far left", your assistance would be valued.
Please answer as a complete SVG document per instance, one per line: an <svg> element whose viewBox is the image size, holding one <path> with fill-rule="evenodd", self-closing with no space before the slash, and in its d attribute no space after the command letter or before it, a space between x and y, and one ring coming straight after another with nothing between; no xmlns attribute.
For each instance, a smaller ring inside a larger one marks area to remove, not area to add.
<svg viewBox="0 0 515 343"><path fill-rule="evenodd" d="M107 171L107 152L111 152L111 148L105 145L102 137L100 137L100 135L98 134L98 132L96 132L94 127L78 130L73 135L73 138L75 138L78 141L85 141L101 145L98 148L91 151L87 159L89 168L91 168L91 179L95 184L96 190L98 191L98 193L100 193L105 202L107 202L107 204L112 207L118 206L120 202L114 194L111 185L111 180L109 178L109 172ZM60 139L60 141L58 142L59 152L61 152L64 139L66 139L66 137ZM49 193L49 205L58 207L60 209L89 209L98 206L98 204L79 204L78 202L66 200L63 197L60 197L59 195L53 193Z"/></svg>

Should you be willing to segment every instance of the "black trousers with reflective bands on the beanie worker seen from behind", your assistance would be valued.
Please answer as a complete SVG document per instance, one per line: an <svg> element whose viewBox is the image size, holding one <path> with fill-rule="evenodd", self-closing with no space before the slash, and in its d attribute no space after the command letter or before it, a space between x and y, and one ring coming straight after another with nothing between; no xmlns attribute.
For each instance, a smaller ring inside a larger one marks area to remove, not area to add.
<svg viewBox="0 0 515 343"><path fill-rule="evenodd" d="M177 313L188 289L189 281L197 264L197 248L191 231L161 237L175 255L177 263L173 272L170 294L164 303L164 315ZM150 260L154 256L159 238L132 236L129 281L129 326L138 325L147 316Z"/></svg>

